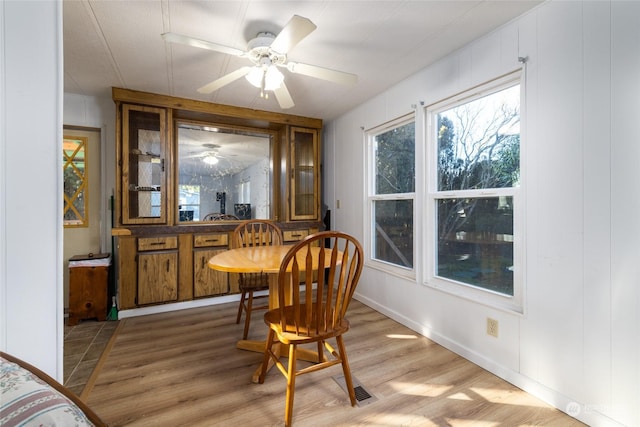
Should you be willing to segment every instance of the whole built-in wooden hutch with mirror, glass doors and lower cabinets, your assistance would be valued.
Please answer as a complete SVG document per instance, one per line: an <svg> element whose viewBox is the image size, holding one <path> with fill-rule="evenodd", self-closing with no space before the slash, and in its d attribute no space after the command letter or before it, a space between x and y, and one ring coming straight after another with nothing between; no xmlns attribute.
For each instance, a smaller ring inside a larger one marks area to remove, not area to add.
<svg viewBox="0 0 640 427"><path fill-rule="evenodd" d="M246 205L251 215L277 222L288 243L321 227L322 120L119 88L112 94L117 139L112 232L121 309L238 292L237 274L207 265L228 248L239 221L206 219L206 213L223 213L223 205L227 213ZM221 129L260 136L269 147L252 150L251 161L236 169L229 159L238 152L210 140L221 138ZM202 147L208 150L204 157ZM217 162L203 168L200 163L210 157Z"/></svg>

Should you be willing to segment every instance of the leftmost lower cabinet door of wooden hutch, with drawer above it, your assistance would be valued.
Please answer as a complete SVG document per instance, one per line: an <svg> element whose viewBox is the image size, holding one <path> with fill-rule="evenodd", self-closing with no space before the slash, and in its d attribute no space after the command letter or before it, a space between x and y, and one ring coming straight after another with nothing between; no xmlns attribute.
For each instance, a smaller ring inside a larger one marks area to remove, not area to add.
<svg viewBox="0 0 640 427"><path fill-rule="evenodd" d="M177 237L138 239L137 305L172 302L177 299Z"/></svg>

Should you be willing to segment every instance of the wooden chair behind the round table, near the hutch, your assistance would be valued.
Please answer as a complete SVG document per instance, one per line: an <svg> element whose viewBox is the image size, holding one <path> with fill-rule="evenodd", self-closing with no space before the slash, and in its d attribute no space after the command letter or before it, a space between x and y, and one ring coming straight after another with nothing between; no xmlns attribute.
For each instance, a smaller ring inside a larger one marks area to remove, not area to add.
<svg viewBox="0 0 640 427"><path fill-rule="evenodd" d="M284 242L282 230L273 222L263 219L250 219L239 224L233 232L232 246L242 248L247 246L281 245ZM240 323L242 312L246 313L244 333L242 339L247 339L251 312L268 308L268 304L253 306L254 299L268 298L269 294L254 295L254 292L269 290L269 275L266 273L240 273L238 281L240 288L240 305L236 323Z"/></svg>

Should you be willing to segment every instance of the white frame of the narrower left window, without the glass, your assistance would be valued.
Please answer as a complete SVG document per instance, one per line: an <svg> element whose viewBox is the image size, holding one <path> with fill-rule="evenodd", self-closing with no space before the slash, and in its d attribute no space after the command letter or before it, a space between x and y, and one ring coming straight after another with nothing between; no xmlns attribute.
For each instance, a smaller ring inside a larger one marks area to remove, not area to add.
<svg viewBox="0 0 640 427"><path fill-rule="evenodd" d="M365 165L365 174L366 174L366 195L367 195L367 209L365 209L365 232L364 232L364 243L365 243L365 263L367 266L385 271L389 274L414 279L416 278L416 264L421 259L418 256L417 252L417 227L416 219L418 216L417 212L417 200L416 200L416 188L418 185L417 182L417 164L415 165L416 173L414 176L414 192L413 193L394 193L394 194L376 194L375 189L375 159L376 153L373 149L374 147L374 138L377 135L385 133L391 129L406 125L408 123L414 123L415 126L415 140L414 140L414 152L417 154L417 140L418 140L418 124L416 123L416 114L412 112L410 114L401 116L397 119L391 120L383 125L376 126L374 128L368 129L364 131L364 138L366 142L366 165ZM414 154L414 161L418 160L417 155ZM373 247L374 237L375 236L375 221L374 217L374 202L378 200L411 200L413 204L413 267L405 267L398 264L386 262L374 257L375 248Z"/></svg>

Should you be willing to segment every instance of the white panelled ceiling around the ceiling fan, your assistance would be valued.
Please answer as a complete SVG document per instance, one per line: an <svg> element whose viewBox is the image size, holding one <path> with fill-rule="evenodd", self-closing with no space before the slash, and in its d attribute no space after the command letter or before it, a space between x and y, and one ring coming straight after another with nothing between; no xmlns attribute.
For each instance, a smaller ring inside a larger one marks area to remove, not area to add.
<svg viewBox="0 0 640 427"><path fill-rule="evenodd" d="M64 0L64 90L110 97L115 86L327 120L540 2ZM197 88L251 63L160 37L175 32L245 50L294 14L317 29L289 59L357 74L355 85L283 70L295 102L287 110L244 78L201 95Z"/></svg>

